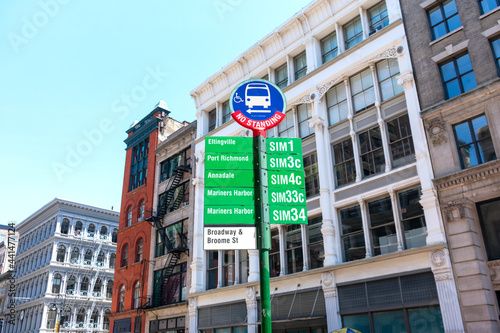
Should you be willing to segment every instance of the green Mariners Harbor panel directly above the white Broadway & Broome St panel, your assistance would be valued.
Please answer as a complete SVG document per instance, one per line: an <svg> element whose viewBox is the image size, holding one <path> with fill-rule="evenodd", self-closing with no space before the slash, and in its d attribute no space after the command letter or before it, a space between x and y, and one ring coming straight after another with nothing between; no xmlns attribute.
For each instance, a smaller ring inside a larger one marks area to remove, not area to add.
<svg viewBox="0 0 500 333"><path fill-rule="evenodd" d="M254 206L205 206L205 224L255 224Z"/></svg>

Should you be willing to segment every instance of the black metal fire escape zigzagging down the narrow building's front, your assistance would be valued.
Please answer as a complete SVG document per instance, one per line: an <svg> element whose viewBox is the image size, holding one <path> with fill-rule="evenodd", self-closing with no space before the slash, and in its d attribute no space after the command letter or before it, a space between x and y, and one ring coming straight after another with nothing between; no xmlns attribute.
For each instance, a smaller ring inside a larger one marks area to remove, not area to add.
<svg viewBox="0 0 500 333"><path fill-rule="evenodd" d="M184 235L178 235L177 231L173 235L167 234L166 226L162 222L165 214L178 209L182 202L186 191L186 188L181 184L184 179L184 174L186 172L191 172L189 166L180 165L173 170L173 175L169 179L169 184L167 184L167 189L162 193L164 197L158 203L157 214L152 213L146 218L151 226L159 231L163 246L166 248L166 254L168 254L167 260L165 261L165 266L162 270L162 282L160 285L159 292L154 292L154 295L148 297L146 304L142 305L142 309L153 308L166 304L163 300L165 291L167 290L168 282L172 273L174 272L175 266L179 261L181 254L186 253L189 255L189 249L187 244L187 239ZM161 196L162 196L161 195ZM160 196L160 197L161 197ZM180 242L178 241L180 239Z"/></svg>

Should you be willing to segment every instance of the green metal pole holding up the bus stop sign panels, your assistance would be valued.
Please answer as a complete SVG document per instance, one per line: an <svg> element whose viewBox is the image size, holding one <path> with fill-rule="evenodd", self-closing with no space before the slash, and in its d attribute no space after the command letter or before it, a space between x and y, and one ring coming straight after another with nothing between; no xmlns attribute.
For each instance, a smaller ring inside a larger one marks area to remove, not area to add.
<svg viewBox="0 0 500 333"><path fill-rule="evenodd" d="M269 250L271 249L271 225L269 223L269 199L267 193L267 146L265 132L254 131L255 197L257 248L260 263L260 318L261 333L271 333L271 287L269 282Z"/></svg>

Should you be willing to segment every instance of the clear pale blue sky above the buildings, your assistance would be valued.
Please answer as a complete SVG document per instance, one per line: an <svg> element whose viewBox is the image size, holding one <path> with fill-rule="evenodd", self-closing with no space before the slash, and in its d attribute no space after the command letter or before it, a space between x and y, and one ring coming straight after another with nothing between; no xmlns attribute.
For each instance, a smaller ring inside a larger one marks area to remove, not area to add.
<svg viewBox="0 0 500 333"><path fill-rule="evenodd" d="M189 92L310 0L0 4L0 224L55 197L119 210L125 131Z"/></svg>

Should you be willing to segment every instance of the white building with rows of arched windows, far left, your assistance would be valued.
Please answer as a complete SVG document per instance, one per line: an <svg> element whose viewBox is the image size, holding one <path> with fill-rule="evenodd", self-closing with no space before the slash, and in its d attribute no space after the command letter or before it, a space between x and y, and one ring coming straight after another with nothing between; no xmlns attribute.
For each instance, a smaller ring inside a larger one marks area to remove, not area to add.
<svg viewBox="0 0 500 333"><path fill-rule="evenodd" d="M108 332L119 213L56 198L16 225L15 325Z"/></svg>

